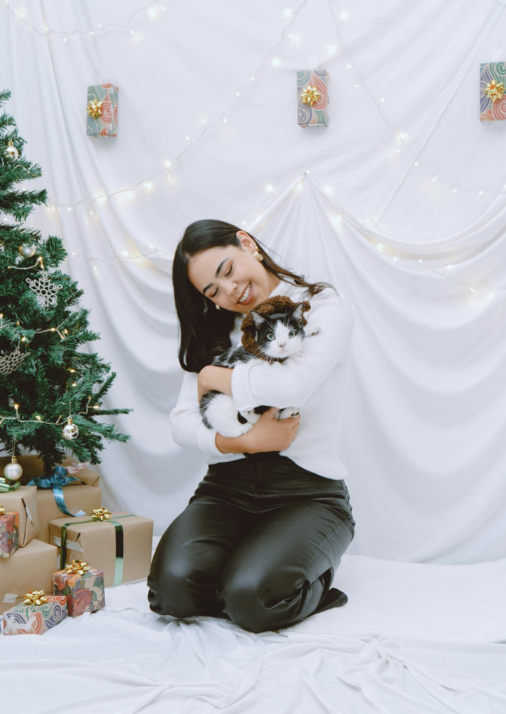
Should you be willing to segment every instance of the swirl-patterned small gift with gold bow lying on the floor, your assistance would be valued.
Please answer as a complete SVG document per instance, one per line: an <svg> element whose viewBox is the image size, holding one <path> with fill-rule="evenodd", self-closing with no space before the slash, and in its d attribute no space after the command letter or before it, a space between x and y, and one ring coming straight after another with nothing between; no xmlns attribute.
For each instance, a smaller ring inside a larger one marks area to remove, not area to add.
<svg viewBox="0 0 506 714"><path fill-rule="evenodd" d="M32 590L23 603L4 613L4 635L41 635L68 615L65 595Z"/></svg>

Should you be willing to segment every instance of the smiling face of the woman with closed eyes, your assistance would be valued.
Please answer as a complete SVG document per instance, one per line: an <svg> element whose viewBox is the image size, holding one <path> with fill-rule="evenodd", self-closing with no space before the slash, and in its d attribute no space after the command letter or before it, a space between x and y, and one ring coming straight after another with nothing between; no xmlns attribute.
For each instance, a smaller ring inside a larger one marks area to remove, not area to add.
<svg viewBox="0 0 506 714"><path fill-rule="evenodd" d="M188 277L199 293L220 308L246 314L267 300L279 278L253 257L254 240L244 231L236 235L242 248L207 248L197 253L189 262Z"/></svg>

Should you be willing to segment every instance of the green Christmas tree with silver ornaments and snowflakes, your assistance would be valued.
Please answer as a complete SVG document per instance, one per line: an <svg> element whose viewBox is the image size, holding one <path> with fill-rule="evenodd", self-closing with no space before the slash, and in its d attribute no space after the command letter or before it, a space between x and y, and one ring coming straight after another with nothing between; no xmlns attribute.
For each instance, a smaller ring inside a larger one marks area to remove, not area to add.
<svg viewBox="0 0 506 714"><path fill-rule="evenodd" d="M0 91L0 107L11 93ZM3 110L2 110L3 111ZM97 416L116 377L95 353L79 351L99 339L89 330L89 310L77 306L83 291L58 266L66 258L60 238L45 240L25 225L46 191L19 184L41 176L23 155L14 119L0 116L0 442L7 453L36 452L49 476L66 451L99 463L103 440L127 441Z"/></svg>

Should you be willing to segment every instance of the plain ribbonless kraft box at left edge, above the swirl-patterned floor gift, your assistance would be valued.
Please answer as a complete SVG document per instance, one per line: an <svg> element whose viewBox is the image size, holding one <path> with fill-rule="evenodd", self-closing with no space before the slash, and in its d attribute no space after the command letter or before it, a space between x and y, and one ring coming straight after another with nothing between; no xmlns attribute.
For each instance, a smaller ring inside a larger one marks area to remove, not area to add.
<svg viewBox="0 0 506 714"><path fill-rule="evenodd" d="M53 592L53 573L58 568L56 546L31 540L11 558L0 560L0 613L24 600L29 590Z"/></svg>

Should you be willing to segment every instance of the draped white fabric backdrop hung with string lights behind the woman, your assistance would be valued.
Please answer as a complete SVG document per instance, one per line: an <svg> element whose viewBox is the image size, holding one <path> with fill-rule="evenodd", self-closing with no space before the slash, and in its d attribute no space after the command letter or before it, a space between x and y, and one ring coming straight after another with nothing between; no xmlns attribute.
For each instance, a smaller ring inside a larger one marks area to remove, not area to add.
<svg viewBox="0 0 506 714"><path fill-rule="evenodd" d="M171 258L188 223L220 218L357 307L339 446L349 553L505 555L506 123L478 121L479 64L506 55L504 4L0 6L7 109L49 191L29 223L64 238L92 348L118 372L107 403L135 409L117 419L132 440L104 452L105 506L162 533L204 474L169 431ZM329 71L325 128L297 126L305 66ZM116 139L85 135L99 81L119 85Z"/></svg>

